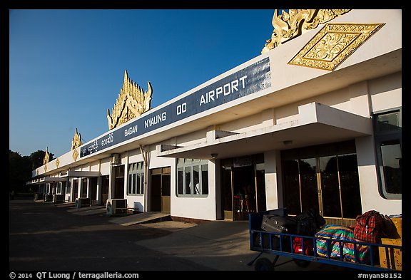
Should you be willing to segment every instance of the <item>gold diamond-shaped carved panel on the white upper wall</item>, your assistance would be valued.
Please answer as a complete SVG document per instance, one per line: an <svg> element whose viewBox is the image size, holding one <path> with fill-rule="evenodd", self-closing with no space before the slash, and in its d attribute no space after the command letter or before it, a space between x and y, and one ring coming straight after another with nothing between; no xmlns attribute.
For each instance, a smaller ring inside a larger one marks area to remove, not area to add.
<svg viewBox="0 0 411 280"><path fill-rule="evenodd" d="M385 24L325 24L288 62L333 71Z"/></svg>

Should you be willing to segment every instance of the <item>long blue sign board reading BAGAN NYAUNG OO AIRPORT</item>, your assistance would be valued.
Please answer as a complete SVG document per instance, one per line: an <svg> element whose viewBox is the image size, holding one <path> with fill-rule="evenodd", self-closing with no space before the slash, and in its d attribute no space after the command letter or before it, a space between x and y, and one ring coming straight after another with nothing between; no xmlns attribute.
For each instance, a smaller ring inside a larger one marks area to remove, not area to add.
<svg viewBox="0 0 411 280"><path fill-rule="evenodd" d="M118 143L210 110L218 105L258 93L260 90L270 88L270 86L270 60L267 57L159 110L145 113L140 118L129 121L129 124L124 125L123 128L108 132L97 140L83 145L80 157L105 150Z"/></svg>

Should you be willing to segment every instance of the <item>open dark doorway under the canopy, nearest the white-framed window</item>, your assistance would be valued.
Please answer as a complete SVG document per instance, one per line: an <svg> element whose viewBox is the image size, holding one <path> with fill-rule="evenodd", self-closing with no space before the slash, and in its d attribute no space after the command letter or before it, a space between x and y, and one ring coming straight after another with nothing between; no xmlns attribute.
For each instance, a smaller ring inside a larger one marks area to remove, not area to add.
<svg viewBox="0 0 411 280"><path fill-rule="evenodd" d="M263 154L221 160L223 219L247 220L266 209Z"/></svg>

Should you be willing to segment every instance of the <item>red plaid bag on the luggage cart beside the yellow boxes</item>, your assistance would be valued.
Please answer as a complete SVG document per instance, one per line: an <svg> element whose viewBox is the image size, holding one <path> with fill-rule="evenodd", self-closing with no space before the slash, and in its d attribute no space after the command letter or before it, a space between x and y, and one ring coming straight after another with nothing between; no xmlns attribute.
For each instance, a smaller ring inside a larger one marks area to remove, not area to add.
<svg viewBox="0 0 411 280"><path fill-rule="evenodd" d="M370 210L355 218L354 237L368 243L381 243L384 237L384 217Z"/></svg>

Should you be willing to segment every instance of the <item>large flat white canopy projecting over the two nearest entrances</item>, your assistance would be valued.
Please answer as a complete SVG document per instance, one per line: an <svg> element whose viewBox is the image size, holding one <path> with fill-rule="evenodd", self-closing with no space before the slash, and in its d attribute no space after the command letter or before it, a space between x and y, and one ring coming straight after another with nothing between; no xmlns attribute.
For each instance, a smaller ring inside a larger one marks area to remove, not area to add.
<svg viewBox="0 0 411 280"><path fill-rule="evenodd" d="M372 135L372 120L320 103L308 103L300 105L297 118L287 123L245 133L210 133L212 137L195 145L157 145L158 156L212 160L351 140Z"/></svg>

